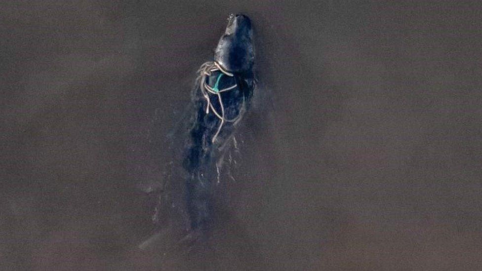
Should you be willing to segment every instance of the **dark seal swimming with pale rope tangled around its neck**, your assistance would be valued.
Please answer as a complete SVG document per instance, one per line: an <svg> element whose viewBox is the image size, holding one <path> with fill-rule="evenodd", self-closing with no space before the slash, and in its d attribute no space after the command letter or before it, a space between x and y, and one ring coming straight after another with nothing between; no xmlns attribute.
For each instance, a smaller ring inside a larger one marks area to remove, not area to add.
<svg viewBox="0 0 482 271"><path fill-rule="evenodd" d="M217 164L236 125L248 110L255 88L254 48L249 18L230 16L214 61L203 64L193 93L194 113L187 132L183 169L191 230L207 230L212 218L212 186Z"/></svg>

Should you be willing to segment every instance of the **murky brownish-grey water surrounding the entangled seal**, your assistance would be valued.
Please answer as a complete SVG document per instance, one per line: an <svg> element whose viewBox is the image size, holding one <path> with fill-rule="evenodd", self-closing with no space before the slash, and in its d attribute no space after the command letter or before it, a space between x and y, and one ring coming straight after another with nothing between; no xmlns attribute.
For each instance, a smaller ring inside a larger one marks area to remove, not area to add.
<svg viewBox="0 0 482 271"><path fill-rule="evenodd" d="M163 138L240 11L264 95L240 131L236 181L220 184L213 238L141 251L154 227L137 186L161 178ZM481 270L481 13L2 2L0 269Z"/></svg>

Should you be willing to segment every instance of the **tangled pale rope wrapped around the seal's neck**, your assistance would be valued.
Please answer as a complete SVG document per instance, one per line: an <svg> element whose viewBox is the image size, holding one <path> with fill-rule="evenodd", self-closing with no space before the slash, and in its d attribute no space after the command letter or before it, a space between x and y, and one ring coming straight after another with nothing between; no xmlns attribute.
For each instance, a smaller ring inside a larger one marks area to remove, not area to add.
<svg viewBox="0 0 482 271"><path fill-rule="evenodd" d="M219 66L216 62L206 62L204 64L201 65L201 68L200 68L200 73L201 74L201 82L200 82L200 88L201 88L201 93L202 93L202 96L206 99L206 102L207 102L207 105L206 105L206 114L209 114L209 109L214 113L214 115L219 118L221 120L221 123L219 124L219 127L216 131L216 133L214 134L214 136L212 137L212 143L214 143L214 141L216 140L217 136L219 135L219 133L221 132L221 128L223 127L224 125L224 122L236 122L240 119L241 117L241 111L240 113L238 114L238 116L236 116L235 118L233 119L227 119L224 117L224 105L223 105L223 100L221 99L221 93L222 92L225 92L225 91L228 91L228 90L231 90L231 89L234 89L238 86L238 84L234 84L230 87L227 87L227 88L223 88L223 89L218 89L218 83L219 83L219 79L221 76L223 75L227 75L229 77L233 77L234 75L225 71L221 66ZM216 82L216 85L214 86L214 88L210 87L208 84L206 84L206 77L208 76L211 76L212 75L212 72L216 72L216 71L220 71L222 74L219 75L218 79L217 79L217 82ZM211 99L209 98L209 93L211 94L214 94L218 97L218 101L219 101L219 106L221 108L221 114L219 114L219 112L217 112L217 110L214 108L214 106L212 105L211 103ZM241 110L244 108L244 96L243 96L243 107L241 107Z"/></svg>

